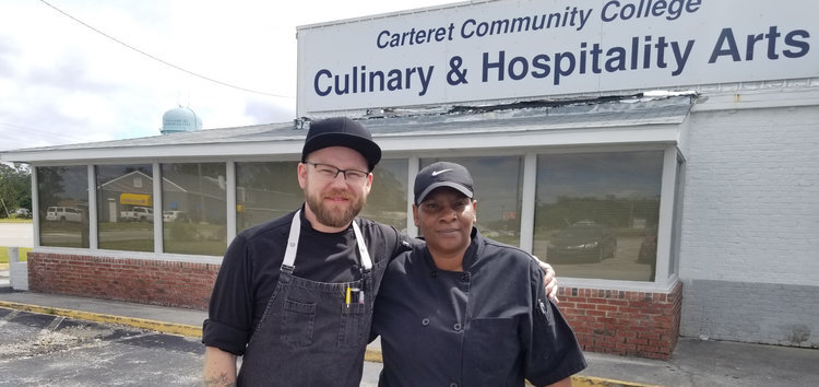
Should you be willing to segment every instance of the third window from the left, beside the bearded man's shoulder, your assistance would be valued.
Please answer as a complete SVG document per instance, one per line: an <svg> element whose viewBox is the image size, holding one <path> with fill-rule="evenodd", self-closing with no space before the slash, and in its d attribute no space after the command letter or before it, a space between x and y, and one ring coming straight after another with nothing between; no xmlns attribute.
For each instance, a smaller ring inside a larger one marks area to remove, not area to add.
<svg viewBox="0 0 819 387"><path fill-rule="evenodd" d="M162 164L165 253L225 254L225 189L224 163Z"/></svg>

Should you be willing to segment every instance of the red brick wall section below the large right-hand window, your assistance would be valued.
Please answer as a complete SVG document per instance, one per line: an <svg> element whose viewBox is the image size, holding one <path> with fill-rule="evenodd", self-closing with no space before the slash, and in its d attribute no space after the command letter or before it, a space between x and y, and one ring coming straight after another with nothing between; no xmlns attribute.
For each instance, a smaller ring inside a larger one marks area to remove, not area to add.
<svg viewBox="0 0 819 387"><path fill-rule="evenodd" d="M682 283L669 293L562 288L558 296L584 351L670 357L679 337Z"/></svg>

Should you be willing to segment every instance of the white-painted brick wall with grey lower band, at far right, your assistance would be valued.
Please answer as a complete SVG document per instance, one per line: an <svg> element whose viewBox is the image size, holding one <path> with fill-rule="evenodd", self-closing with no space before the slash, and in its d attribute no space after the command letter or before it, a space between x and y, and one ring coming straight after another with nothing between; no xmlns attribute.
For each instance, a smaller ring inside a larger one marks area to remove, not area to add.
<svg viewBox="0 0 819 387"><path fill-rule="evenodd" d="M691 115L682 336L819 348L818 122L819 106Z"/></svg>

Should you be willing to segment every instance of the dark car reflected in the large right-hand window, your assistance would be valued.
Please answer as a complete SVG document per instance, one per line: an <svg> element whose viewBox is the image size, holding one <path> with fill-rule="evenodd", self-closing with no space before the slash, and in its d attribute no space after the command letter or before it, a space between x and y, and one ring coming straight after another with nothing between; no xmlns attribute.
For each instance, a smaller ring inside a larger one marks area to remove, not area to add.
<svg viewBox="0 0 819 387"><path fill-rule="evenodd" d="M555 233L547 246L548 262L575 263L580 261L600 262L614 257L617 251L617 237L612 231L591 222L579 222Z"/></svg>

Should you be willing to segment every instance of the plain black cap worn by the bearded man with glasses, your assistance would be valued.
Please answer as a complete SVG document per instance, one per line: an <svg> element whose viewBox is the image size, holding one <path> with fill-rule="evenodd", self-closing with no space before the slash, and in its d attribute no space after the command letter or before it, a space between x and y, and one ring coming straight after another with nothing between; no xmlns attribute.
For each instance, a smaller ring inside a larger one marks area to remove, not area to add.
<svg viewBox="0 0 819 387"><path fill-rule="evenodd" d="M372 134L360 122L347 117L333 117L312 121L307 131L301 162L307 155L329 146L345 146L360 153L370 171L381 161L381 148L372 141Z"/></svg>

